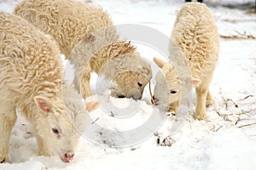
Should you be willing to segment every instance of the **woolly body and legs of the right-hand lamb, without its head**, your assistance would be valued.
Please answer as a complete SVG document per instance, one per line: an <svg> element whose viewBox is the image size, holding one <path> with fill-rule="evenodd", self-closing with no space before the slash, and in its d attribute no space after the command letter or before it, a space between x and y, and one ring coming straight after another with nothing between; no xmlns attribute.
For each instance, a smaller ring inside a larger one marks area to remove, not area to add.
<svg viewBox="0 0 256 170"><path fill-rule="evenodd" d="M177 46L177 47L175 47ZM173 56L172 50L179 48L179 56ZM191 71L192 83L195 85L197 102L195 118L206 119L206 105L212 105L209 85L213 71L218 62L218 30L212 14L205 4L186 3L177 13L170 42L170 59L176 63L184 58ZM178 71L178 69L177 69ZM183 77L181 77L182 79ZM179 102L174 103L177 110Z"/></svg>

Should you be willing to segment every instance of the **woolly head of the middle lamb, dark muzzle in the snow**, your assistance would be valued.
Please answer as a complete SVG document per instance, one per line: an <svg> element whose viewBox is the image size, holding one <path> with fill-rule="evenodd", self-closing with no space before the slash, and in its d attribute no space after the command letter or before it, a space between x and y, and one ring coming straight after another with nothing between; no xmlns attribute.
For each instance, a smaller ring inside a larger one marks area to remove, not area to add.
<svg viewBox="0 0 256 170"><path fill-rule="evenodd" d="M117 98L142 99L143 90L152 77L151 67L139 54L125 55L113 78L111 95Z"/></svg>

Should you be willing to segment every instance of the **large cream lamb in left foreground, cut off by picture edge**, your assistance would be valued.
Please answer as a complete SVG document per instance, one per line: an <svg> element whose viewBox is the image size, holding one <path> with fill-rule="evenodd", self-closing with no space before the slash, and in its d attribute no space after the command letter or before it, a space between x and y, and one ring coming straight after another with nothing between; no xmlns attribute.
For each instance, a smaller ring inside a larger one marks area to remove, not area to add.
<svg viewBox="0 0 256 170"><path fill-rule="evenodd" d="M38 155L73 160L86 111L77 91L64 86L63 72L51 37L15 14L0 12L1 163L9 161L16 109L32 123Z"/></svg>

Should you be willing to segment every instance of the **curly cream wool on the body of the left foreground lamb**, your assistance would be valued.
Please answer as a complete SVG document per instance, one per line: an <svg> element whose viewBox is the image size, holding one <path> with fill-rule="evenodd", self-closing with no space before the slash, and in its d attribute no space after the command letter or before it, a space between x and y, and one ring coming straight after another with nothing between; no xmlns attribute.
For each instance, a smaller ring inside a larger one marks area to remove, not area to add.
<svg viewBox="0 0 256 170"><path fill-rule="evenodd" d="M33 103L37 95L61 98L63 65L55 42L20 17L1 13L0 23L0 89L9 92L6 97L17 105Z"/></svg>

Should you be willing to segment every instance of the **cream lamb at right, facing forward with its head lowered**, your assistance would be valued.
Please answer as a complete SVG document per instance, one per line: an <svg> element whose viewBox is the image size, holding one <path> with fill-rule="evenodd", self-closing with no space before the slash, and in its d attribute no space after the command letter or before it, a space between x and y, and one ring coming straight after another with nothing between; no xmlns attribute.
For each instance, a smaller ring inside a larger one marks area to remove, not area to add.
<svg viewBox="0 0 256 170"><path fill-rule="evenodd" d="M154 63L162 71L156 77L155 104L167 102L167 111L176 113L184 93L182 87L185 84L190 87L192 82L197 95L195 118L206 119L206 105L212 105L209 85L218 61L218 48L217 26L207 6L202 3L184 4L177 13L170 39L169 50L172 62L154 58ZM181 65L187 65L190 73Z"/></svg>

